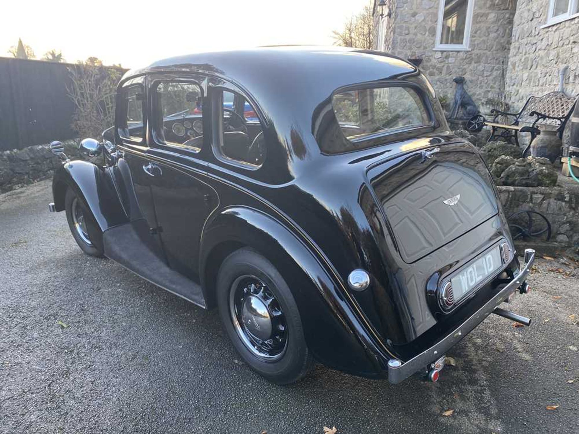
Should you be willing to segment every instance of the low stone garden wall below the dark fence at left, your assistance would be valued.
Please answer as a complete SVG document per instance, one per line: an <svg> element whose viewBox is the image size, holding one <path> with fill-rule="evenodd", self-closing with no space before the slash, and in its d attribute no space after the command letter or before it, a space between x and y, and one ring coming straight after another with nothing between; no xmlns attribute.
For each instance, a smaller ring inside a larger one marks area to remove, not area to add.
<svg viewBox="0 0 579 434"><path fill-rule="evenodd" d="M77 143L74 139L63 142L68 157L79 156ZM0 193L49 178L60 164L62 164L61 160L50 152L48 145L2 151L0 152Z"/></svg>

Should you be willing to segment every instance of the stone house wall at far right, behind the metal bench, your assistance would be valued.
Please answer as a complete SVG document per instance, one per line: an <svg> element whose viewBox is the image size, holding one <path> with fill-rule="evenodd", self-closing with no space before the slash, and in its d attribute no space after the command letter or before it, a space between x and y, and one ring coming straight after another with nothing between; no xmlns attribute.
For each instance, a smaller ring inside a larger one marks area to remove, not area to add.
<svg viewBox="0 0 579 434"><path fill-rule="evenodd" d="M579 17L541 28L548 8L547 0L518 0L506 79L512 109L521 109L530 95L558 90L565 65L565 91L579 94Z"/></svg>

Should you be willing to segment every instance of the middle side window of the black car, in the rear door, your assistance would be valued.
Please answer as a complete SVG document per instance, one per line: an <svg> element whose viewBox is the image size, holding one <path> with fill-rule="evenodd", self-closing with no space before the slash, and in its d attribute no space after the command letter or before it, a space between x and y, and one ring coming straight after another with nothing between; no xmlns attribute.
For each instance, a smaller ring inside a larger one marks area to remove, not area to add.
<svg viewBox="0 0 579 434"><path fill-rule="evenodd" d="M200 150L203 144L203 91L199 84L159 82L154 101L156 142Z"/></svg>

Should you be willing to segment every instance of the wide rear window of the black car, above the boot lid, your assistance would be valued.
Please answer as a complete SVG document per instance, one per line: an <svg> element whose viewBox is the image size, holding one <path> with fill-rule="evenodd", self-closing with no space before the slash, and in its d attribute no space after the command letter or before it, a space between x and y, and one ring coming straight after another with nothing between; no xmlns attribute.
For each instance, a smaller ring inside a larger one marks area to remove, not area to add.
<svg viewBox="0 0 579 434"><path fill-rule="evenodd" d="M332 108L342 133L351 142L432 125L430 113L413 87L340 91L332 96Z"/></svg>

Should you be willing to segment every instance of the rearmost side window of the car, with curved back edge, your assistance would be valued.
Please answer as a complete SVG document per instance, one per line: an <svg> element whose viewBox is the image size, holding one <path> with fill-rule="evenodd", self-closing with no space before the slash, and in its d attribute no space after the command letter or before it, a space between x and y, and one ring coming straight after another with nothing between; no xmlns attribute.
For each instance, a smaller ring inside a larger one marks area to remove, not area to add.
<svg viewBox="0 0 579 434"><path fill-rule="evenodd" d="M215 101L223 107L217 113L218 156L248 168L260 167L265 161L266 145L254 107L239 93L214 91Z"/></svg>

